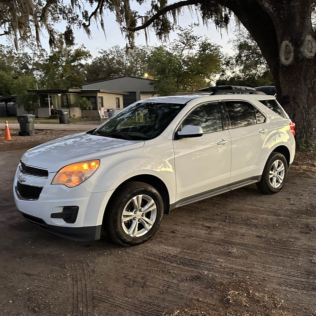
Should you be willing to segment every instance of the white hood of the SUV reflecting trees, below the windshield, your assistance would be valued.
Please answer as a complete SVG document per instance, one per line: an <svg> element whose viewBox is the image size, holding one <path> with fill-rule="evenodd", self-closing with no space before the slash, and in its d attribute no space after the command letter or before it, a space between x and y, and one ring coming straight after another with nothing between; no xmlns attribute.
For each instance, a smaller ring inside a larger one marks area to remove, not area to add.
<svg viewBox="0 0 316 316"><path fill-rule="evenodd" d="M143 141L102 137L83 132L36 146L24 153L21 160L29 166L56 172L71 163L101 159L122 151L140 148L143 145Z"/></svg>

